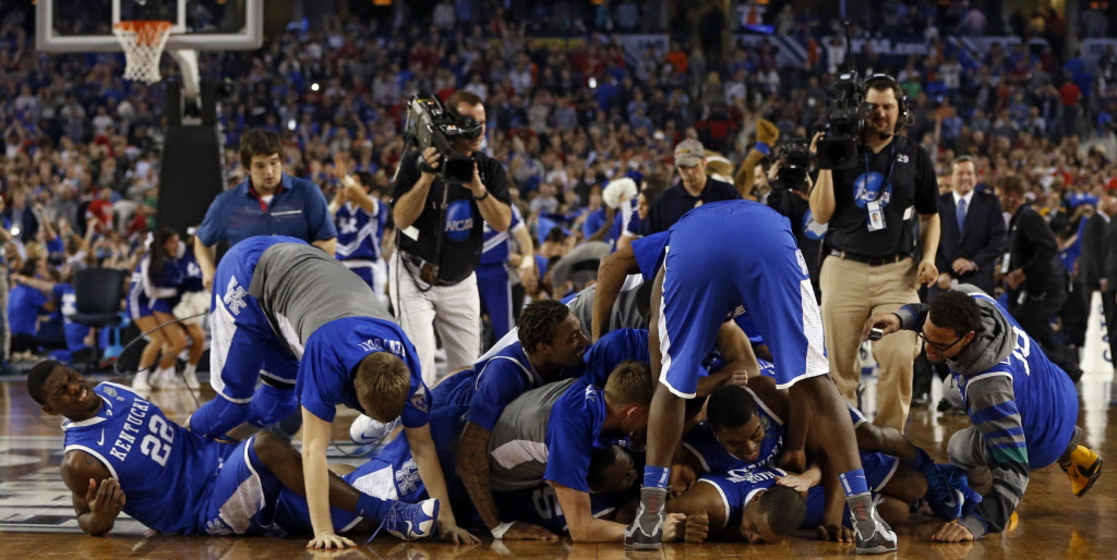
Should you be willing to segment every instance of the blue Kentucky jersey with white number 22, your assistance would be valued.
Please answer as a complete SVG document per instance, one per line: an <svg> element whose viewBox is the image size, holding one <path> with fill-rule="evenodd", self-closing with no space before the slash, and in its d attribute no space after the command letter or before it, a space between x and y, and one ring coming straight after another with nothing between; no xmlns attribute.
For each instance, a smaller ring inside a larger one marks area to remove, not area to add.
<svg viewBox="0 0 1117 560"><path fill-rule="evenodd" d="M102 383L97 415L64 422L66 452L97 457L124 491L124 513L164 533L203 533L199 504L232 444L211 444L131 388Z"/></svg>

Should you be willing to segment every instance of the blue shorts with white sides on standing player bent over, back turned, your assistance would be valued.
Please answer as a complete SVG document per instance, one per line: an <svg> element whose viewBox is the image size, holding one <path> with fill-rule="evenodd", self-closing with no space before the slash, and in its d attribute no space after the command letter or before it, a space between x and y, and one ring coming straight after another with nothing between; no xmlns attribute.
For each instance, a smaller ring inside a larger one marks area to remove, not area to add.
<svg viewBox="0 0 1117 560"><path fill-rule="evenodd" d="M660 383L693 398L718 329L743 310L771 345L780 388L830 371L806 261L786 218L751 201L713 202L687 212L668 234ZM712 250L712 239L725 242Z"/></svg>

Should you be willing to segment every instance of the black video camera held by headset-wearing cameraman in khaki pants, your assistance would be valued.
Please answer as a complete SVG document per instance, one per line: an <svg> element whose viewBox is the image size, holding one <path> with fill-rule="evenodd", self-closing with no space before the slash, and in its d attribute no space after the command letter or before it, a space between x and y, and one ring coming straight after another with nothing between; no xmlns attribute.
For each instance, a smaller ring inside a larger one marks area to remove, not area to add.
<svg viewBox="0 0 1117 560"><path fill-rule="evenodd" d="M819 167L842 170L857 165L857 143L869 116L862 91L861 78L857 71L838 76L838 83L830 91L831 108L822 125L825 138L818 143Z"/></svg>

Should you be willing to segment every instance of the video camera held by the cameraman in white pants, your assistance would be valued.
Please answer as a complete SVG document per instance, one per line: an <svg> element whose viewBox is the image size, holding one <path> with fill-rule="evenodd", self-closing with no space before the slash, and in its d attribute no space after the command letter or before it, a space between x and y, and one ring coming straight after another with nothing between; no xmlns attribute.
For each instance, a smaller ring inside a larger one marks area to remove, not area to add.
<svg viewBox="0 0 1117 560"><path fill-rule="evenodd" d="M469 183L474 180L474 158L458 155L450 142L464 138L475 141L484 125L470 116L448 110L433 95L416 95L408 100L408 118L403 127L404 139L414 143L422 152L435 146L442 155L439 175L447 183Z"/></svg>

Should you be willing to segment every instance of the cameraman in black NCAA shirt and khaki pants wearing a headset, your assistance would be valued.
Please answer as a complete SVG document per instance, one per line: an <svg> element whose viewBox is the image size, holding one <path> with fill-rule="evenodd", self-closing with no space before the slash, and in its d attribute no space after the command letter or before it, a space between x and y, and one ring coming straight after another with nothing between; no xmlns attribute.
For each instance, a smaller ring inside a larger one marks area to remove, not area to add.
<svg viewBox="0 0 1117 560"><path fill-rule="evenodd" d="M938 189L927 153L896 135L897 124L908 118L903 91L891 77L875 75L860 95L859 110L868 110L855 138L856 163L822 168L810 196L814 220L829 224L820 284L830 370L850 402L861 378L856 326L918 300L918 286L938 278ZM817 154L822 136L815 134L811 143ZM819 166L828 165L820 155ZM872 348L880 364L875 423L903 431L911 402L915 334L888 337Z"/></svg>

